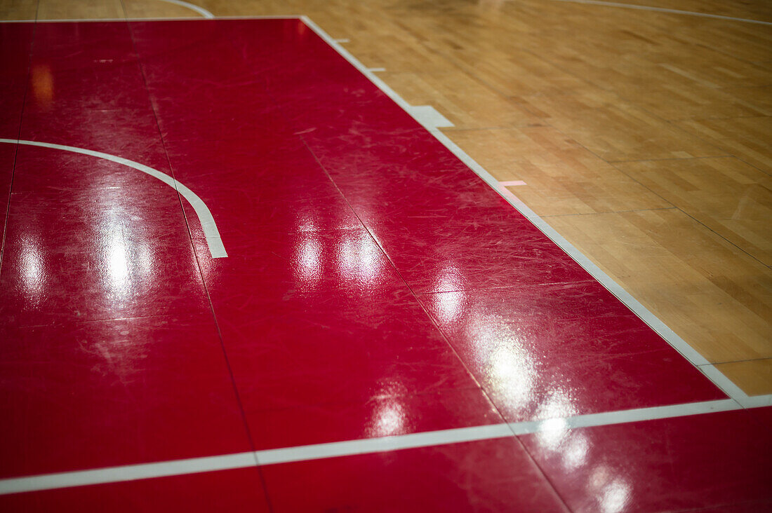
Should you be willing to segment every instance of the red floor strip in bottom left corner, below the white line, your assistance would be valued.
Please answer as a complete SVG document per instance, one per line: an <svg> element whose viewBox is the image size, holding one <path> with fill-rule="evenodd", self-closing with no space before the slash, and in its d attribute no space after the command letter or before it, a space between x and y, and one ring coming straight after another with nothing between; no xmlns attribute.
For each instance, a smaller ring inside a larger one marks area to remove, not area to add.
<svg viewBox="0 0 772 513"><path fill-rule="evenodd" d="M269 511L256 468L0 496L6 513Z"/></svg>

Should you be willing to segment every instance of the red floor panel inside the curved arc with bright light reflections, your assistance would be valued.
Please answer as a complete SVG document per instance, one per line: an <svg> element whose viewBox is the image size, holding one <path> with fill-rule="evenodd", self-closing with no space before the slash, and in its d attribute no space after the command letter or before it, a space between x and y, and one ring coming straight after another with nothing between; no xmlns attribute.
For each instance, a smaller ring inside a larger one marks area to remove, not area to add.
<svg viewBox="0 0 772 513"><path fill-rule="evenodd" d="M143 185L12 194L0 321L210 315L177 194L149 177Z"/></svg>

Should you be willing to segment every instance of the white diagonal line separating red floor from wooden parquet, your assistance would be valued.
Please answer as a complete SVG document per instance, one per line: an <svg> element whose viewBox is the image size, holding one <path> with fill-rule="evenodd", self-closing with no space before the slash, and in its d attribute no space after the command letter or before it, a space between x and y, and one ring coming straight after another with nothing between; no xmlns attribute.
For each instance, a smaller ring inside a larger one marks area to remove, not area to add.
<svg viewBox="0 0 772 513"><path fill-rule="evenodd" d="M371 71L367 69L367 67L364 66L361 62L359 62L356 57L351 55L351 53L348 52L347 49L345 49L343 46L337 44L337 42L335 42L335 40L332 39L330 35L327 34L327 32L324 32L319 25L314 23L307 16L301 16L300 19L303 20L303 23L308 25L310 29L313 30L313 32L317 32L317 35L324 39L328 45L332 46L338 53L340 53L340 56L350 62L351 65L363 73L364 76L367 76L367 78L370 79L370 81L374 83L378 89L381 89L381 91L386 94L386 96L391 98L391 100L394 100L394 103L397 103L398 106L401 106L405 111L410 113L411 106L405 100L403 100L402 97L394 91L394 89L391 89L391 87L389 87L388 84L386 84L383 80L378 78L378 76L375 76L374 73L371 73ZM665 339L665 341L669 343L673 349L681 353L684 358L688 359L689 362L695 366L699 367L709 365L709 361L704 356L699 354L694 348L692 348L692 346L689 346L689 344L686 343L684 339L678 336L672 329L666 326L664 322L659 320L657 316L655 316L652 312L645 308L644 305L638 302L637 299L632 297L629 292L627 292L620 285L618 285L617 282L611 279L611 277L603 272L601 268L598 267L598 265L595 265L589 258L587 258L587 256L575 248L574 245L567 241L562 235L557 233L557 231L555 231L554 228L547 224L546 221L540 218L534 211L528 208L526 204L524 204L514 194L512 194L512 191L499 184L499 182L496 181L496 178L489 174L488 171L486 171L482 166L477 164L476 161L472 159L472 157L469 157L469 155L467 155L464 150L462 150L457 144L450 140L450 138L446 136L445 133L442 133L440 130L429 130L429 132L432 133L432 135L442 144L444 144L445 147L448 148L453 154L455 154L459 160L469 166L469 168L472 169L480 178L482 178L483 181L486 181L490 187L493 187L495 191L501 194L506 199L506 201L509 201L510 204L520 212L520 214L523 214L523 216L525 216L537 228L539 228L544 235L547 235L551 241L560 246L560 248L563 249L563 251L565 251L569 256L571 256L571 258L574 258L574 261L581 265L585 271L590 273L593 278L598 280L601 285L603 285L606 289L608 289L609 292L614 294L621 302L623 302L628 307L628 309L631 309L631 311L640 317L646 324L648 324L650 328L659 333L659 336L662 336L662 338ZM772 400L772 394L770 394L768 396L753 397L749 402L747 400L747 396L745 396L744 393L742 395L736 393L739 389L736 387L726 386L726 382L728 380L714 379L715 375L708 373L706 373L706 376L708 376L713 384L723 390L724 393L726 393L733 400L736 400L737 403L742 404L744 401L748 404L756 404L763 403L767 400Z"/></svg>

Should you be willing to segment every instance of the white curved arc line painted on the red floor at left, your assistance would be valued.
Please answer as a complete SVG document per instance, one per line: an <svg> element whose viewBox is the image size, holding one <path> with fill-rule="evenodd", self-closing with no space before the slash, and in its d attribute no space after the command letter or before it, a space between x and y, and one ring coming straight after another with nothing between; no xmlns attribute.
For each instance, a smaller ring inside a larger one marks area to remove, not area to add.
<svg viewBox="0 0 772 513"><path fill-rule="evenodd" d="M74 146L65 146L64 144L40 143L35 140L17 139L0 139L0 143L24 144L26 146L37 146L42 148L52 148L54 150L71 151L76 154L90 155L91 157L110 160L117 164L122 164L124 166L136 169L137 171L142 171L144 174L149 174L151 177L157 178L158 180L164 182L164 184L167 184L169 187L173 188L174 191L178 191L182 197L185 197L185 200L188 201L193 210L195 210L195 213L198 216L198 221L201 223L201 230L204 231L206 244L209 246L209 252L212 253L212 258L225 258L228 256L228 253L225 251L225 246L222 245L222 238L220 238L220 232L217 229L215 218L212 217L212 212L209 211L209 208L206 206L204 201L198 197L198 194L195 194L195 192L191 191L184 184L174 180L174 178L170 177L168 174L161 173L161 171L157 169L153 169L152 167L140 164L139 162L134 162L134 160L129 160L124 157L104 154L101 151L86 150L84 148Z"/></svg>

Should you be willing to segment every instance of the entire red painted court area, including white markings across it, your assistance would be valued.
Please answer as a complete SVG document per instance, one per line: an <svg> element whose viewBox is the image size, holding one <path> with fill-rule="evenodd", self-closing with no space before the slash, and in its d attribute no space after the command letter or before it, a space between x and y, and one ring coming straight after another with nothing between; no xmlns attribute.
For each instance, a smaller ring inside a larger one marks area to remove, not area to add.
<svg viewBox="0 0 772 513"><path fill-rule="evenodd" d="M2 511L772 511L772 408L303 20L0 57Z"/></svg>

